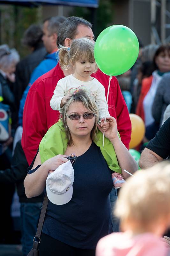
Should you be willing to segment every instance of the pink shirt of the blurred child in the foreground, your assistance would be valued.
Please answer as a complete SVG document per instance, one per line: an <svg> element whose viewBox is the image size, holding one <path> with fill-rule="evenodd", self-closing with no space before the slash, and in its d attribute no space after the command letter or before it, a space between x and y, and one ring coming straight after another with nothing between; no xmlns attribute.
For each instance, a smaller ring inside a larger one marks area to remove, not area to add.
<svg viewBox="0 0 170 256"><path fill-rule="evenodd" d="M167 256L168 249L159 237L152 233L129 236L112 233L97 244L96 256Z"/></svg>

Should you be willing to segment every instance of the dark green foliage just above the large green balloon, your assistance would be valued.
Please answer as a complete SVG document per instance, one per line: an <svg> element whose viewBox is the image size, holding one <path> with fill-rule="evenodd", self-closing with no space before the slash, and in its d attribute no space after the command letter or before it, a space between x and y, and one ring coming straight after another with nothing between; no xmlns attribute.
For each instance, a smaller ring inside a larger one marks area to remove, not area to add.
<svg viewBox="0 0 170 256"><path fill-rule="evenodd" d="M103 29L113 25L113 3L111 0L100 0L99 7L95 10L94 14L92 13L92 8L75 7L70 13L70 16L73 15L92 22L94 25L93 32L97 38Z"/></svg>

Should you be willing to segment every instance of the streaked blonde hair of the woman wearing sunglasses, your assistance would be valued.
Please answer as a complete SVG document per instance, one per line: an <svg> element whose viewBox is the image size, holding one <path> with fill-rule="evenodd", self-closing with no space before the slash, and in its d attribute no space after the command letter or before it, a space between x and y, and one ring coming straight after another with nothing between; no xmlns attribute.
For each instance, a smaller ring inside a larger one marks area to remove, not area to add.
<svg viewBox="0 0 170 256"><path fill-rule="evenodd" d="M72 103L74 102L81 102L83 104L83 106L90 112L90 113L94 113L94 126L92 128L91 131L91 138L92 141L97 139L97 124L99 121L99 107L95 102L95 99L93 96L90 95L89 92L86 92L84 90L80 90L76 93L74 93L72 95L72 97L70 98L70 100L67 101L67 103L64 105L62 112L60 114L60 118L63 121L63 127L65 129L66 132L66 137L68 139L68 145L71 146L73 145L73 141L71 138L71 134L69 131L69 128L67 126L67 117L68 117L68 111L70 106L72 105ZM74 121L73 121L74 122Z"/></svg>

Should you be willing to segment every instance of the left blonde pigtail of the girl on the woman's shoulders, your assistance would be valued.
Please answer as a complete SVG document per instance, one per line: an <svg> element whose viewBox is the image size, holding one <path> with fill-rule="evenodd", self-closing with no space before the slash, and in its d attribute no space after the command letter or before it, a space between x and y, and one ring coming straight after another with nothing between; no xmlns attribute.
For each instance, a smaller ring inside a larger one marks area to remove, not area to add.
<svg viewBox="0 0 170 256"><path fill-rule="evenodd" d="M58 49L58 55L59 55L59 63L61 68L63 69L69 69L70 68L70 48L61 46Z"/></svg>

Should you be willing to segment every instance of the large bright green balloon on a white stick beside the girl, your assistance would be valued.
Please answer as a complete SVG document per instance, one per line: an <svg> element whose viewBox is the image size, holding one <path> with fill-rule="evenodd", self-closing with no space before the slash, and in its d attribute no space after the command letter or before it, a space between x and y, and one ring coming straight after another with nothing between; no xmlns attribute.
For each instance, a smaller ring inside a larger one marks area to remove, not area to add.
<svg viewBox="0 0 170 256"><path fill-rule="evenodd" d="M94 58L100 70L108 76L118 76L129 70L139 53L135 33L123 25L104 29L94 46Z"/></svg>

